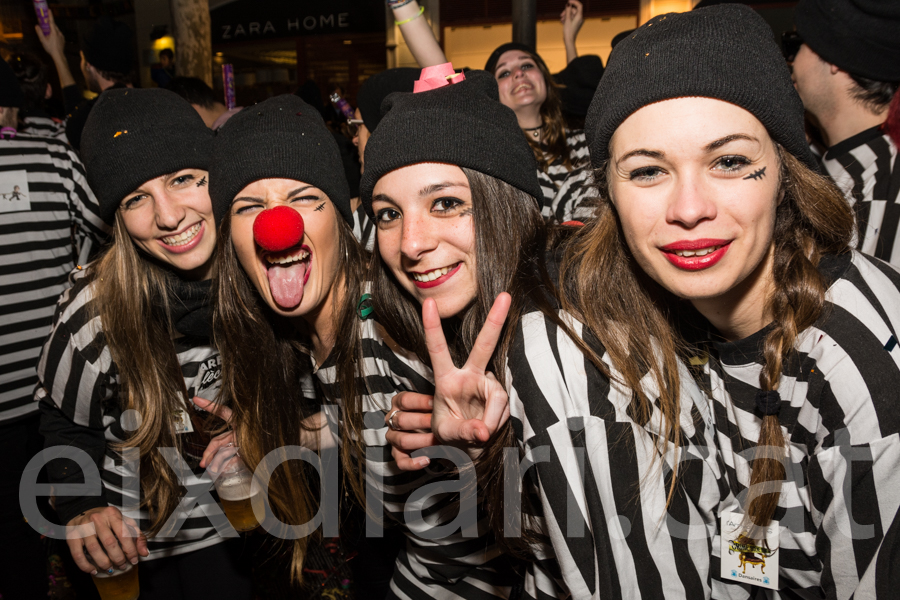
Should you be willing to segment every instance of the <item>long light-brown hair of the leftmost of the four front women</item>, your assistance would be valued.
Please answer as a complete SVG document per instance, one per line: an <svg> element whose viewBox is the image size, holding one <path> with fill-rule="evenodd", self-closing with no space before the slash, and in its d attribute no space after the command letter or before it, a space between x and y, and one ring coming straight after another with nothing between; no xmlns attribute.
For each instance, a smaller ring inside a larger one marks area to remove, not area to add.
<svg viewBox="0 0 900 600"><path fill-rule="evenodd" d="M121 213L113 241L89 267L104 340L118 369L123 409L141 416L137 430L116 448L140 452L142 506L153 536L181 499L181 484L158 448L181 449L171 415L187 394L172 342L166 279L171 275L137 249Z"/></svg>

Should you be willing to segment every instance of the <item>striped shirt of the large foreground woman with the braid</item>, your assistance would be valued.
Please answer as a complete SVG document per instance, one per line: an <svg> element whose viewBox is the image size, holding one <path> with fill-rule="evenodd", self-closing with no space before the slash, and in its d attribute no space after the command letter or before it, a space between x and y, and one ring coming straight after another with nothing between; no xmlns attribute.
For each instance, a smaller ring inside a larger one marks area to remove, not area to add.
<svg viewBox="0 0 900 600"><path fill-rule="evenodd" d="M832 282L825 313L798 337L778 385L791 468L774 515L781 589L766 594L896 597L885 576L900 569L900 271L854 251L825 257L820 272ZM716 344L705 367L735 497L749 485L759 439L766 333ZM715 591L748 598L754 589L717 582Z"/></svg>

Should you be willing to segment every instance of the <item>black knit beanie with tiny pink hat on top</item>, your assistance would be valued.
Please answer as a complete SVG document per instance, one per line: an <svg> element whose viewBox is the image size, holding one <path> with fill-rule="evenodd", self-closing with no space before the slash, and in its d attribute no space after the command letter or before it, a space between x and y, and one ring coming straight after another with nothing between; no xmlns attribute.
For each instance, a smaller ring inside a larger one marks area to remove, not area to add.
<svg viewBox="0 0 900 600"><path fill-rule="evenodd" d="M366 145L359 198L372 212L372 190L387 173L422 162L457 165L505 181L543 198L537 163L515 113L500 104L497 82L486 71L465 81L385 100L385 116Z"/></svg>

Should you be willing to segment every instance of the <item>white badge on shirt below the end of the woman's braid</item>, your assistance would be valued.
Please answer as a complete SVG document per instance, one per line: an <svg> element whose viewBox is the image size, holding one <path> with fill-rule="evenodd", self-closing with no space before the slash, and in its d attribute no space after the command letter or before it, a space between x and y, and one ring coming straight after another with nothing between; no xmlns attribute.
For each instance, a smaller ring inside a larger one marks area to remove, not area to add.
<svg viewBox="0 0 900 600"><path fill-rule="evenodd" d="M770 590L778 589L778 521L766 528L766 540L741 543L744 515L735 512L722 514L722 579L740 581Z"/></svg>

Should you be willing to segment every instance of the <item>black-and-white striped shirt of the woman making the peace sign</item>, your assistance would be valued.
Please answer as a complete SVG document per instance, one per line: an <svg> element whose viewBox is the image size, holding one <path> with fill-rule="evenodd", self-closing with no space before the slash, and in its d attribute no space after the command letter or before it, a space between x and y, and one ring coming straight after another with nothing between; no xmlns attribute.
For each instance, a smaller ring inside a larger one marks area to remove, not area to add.
<svg viewBox="0 0 900 600"><path fill-rule="evenodd" d="M599 341L567 313L560 317L615 376ZM680 368L680 466L668 508L675 457L671 442L661 447L658 406L648 423L635 422L631 391L604 377L538 311L516 326L507 375L513 426L538 461L533 469L552 546L548 554L555 553L561 571L559 582L536 572L528 595L710 597L716 518L729 492L709 451L709 401L687 368ZM644 393L658 398L652 375L643 382Z"/></svg>

